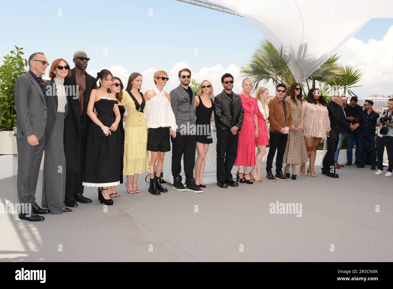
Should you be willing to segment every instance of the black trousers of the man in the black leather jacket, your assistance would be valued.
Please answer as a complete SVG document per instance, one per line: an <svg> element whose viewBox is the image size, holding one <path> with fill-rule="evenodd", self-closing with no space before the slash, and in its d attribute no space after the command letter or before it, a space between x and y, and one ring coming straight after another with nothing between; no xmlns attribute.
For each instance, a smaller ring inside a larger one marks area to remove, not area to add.
<svg viewBox="0 0 393 289"><path fill-rule="evenodd" d="M217 129L217 181L231 180L233 164L237 156L239 134L228 129Z"/></svg>

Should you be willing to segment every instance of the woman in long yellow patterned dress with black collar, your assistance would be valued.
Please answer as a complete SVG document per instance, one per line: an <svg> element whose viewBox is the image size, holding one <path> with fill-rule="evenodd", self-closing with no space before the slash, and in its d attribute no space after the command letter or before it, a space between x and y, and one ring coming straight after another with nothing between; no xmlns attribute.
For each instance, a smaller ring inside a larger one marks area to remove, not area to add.
<svg viewBox="0 0 393 289"><path fill-rule="evenodd" d="M142 75L133 72L123 92L121 102L127 109L124 140L124 167L123 174L127 175L127 192L139 193L138 175L149 169L149 153L147 145L147 127L143 116L145 98L140 92Z"/></svg>

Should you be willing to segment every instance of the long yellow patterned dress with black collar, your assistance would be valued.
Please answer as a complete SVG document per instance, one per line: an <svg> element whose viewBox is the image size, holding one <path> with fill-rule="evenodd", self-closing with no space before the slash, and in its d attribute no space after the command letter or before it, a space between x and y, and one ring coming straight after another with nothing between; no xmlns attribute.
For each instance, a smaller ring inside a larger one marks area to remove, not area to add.
<svg viewBox="0 0 393 289"><path fill-rule="evenodd" d="M124 175L140 174L149 169L149 153L146 150L147 127L143 116L145 99L141 92L140 94L142 97L140 105L130 91L123 92L123 99L121 100L121 103L127 109L127 120L124 128Z"/></svg>

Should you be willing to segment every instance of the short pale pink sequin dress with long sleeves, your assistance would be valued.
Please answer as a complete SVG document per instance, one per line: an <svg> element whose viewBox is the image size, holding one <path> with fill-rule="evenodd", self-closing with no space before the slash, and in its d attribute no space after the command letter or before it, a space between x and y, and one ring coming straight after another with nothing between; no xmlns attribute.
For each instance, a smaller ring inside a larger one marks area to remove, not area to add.
<svg viewBox="0 0 393 289"><path fill-rule="evenodd" d="M327 107L307 101L303 102L303 135L306 138L327 139L330 131L329 111Z"/></svg>

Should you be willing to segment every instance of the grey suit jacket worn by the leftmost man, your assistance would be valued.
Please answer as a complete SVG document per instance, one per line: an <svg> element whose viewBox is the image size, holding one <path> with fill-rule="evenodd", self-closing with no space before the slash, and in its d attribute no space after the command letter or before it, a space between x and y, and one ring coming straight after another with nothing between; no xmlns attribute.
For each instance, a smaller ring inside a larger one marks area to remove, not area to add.
<svg viewBox="0 0 393 289"><path fill-rule="evenodd" d="M17 125L15 136L27 138L32 134L40 139L46 127L46 102L39 84L29 73L18 77L14 85Z"/></svg>

